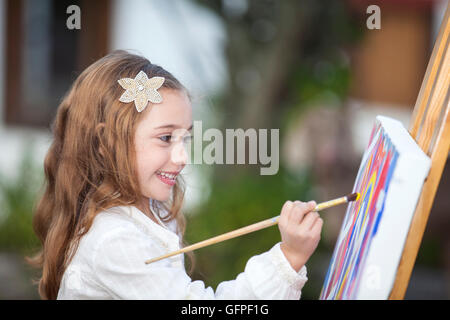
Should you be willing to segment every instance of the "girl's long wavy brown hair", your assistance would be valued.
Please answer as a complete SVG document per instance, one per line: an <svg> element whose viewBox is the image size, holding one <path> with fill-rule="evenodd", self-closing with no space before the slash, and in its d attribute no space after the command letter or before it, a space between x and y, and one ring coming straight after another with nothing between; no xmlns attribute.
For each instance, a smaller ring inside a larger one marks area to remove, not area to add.
<svg viewBox="0 0 450 320"><path fill-rule="evenodd" d="M162 67L117 50L85 69L58 107L51 125L53 142L44 161L44 191L33 216L42 248L27 258L42 268L38 279L42 299L56 299L80 238L99 212L142 203L134 150L134 133L142 113L134 104L119 101L123 88L117 83L121 78L134 78L140 70L149 78L164 77L163 87L188 94ZM184 181L179 175L170 199L154 207L163 221L176 219L181 235L185 230L183 198Z"/></svg>

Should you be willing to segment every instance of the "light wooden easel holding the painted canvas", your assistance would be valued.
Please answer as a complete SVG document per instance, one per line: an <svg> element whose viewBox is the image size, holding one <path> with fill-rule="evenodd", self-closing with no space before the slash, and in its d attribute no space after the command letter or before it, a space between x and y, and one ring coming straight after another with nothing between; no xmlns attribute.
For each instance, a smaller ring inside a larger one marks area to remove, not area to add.
<svg viewBox="0 0 450 320"><path fill-rule="evenodd" d="M403 299L450 148L450 4L411 118L409 133L431 158L389 299Z"/></svg>

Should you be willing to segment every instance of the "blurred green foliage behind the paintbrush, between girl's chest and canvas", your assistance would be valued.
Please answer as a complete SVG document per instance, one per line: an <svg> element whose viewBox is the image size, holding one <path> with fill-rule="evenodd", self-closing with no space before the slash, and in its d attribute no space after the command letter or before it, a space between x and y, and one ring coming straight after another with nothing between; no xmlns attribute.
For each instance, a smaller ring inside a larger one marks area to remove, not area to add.
<svg viewBox="0 0 450 320"><path fill-rule="evenodd" d="M212 186L208 201L188 214L186 240L202 241L280 214L287 200L311 200L312 178L294 175L280 167L278 174L236 175L229 182ZM248 259L269 250L281 241L277 226L259 230L195 251L193 278L208 286L234 279L244 271Z"/></svg>

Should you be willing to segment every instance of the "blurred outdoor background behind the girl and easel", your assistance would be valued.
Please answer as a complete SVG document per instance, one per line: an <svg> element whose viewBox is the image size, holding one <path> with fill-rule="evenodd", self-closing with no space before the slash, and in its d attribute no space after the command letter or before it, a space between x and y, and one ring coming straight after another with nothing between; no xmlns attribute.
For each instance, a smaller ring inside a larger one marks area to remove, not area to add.
<svg viewBox="0 0 450 320"><path fill-rule="evenodd" d="M375 116L408 127L448 1L0 0L0 299L38 299L24 263L57 106L114 49L142 54L193 95L207 128L280 129L280 169L189 165L186 240L277 215L286 200L348 193ZM368 29L369 5L381 29ZM67 22L80 9L80 28ZM450 168L434 201L406 299L450 297ZM317 299L345 207L324 213L303 299ZM273 227L196 251L214 289L280 241Z"/></svg>

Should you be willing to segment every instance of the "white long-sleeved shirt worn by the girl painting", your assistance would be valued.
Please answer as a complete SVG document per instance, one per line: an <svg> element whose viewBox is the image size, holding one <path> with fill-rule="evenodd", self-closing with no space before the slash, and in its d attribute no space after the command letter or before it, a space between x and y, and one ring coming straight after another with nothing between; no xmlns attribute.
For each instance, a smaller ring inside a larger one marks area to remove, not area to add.
<svg viewBox="0 0 450 320"><path fill-rule="evenodd" d="M57 299L300 299L308 280L306 267L297 273L280 243L251 257L245 270L221 282L216 292L192 281L182 254L145 264L178 249L178 235L136 207L102 211L81 238Z"/></svg>

